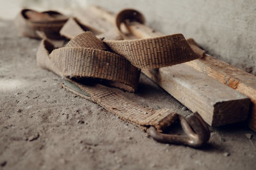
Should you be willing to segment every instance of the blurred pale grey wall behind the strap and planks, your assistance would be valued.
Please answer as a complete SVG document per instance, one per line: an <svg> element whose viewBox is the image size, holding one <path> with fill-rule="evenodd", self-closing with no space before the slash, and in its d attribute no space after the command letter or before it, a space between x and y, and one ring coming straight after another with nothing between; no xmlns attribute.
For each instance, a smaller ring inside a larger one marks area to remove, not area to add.
<svg viewBox="0 0 256 170"><path fill-rule="evenodd" d="M111 11L136 8L147 24L164 34L194 38L211 55L256 75L255 0L0 0L0 18L24 7L70 14L90 4Z"/></svg>

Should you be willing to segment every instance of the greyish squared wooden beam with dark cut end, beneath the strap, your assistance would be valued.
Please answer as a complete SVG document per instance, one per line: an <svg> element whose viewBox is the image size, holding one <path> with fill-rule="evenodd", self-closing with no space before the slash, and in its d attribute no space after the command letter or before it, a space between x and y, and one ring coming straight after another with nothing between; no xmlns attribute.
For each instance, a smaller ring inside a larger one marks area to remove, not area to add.
<svg viewBox="0 0 256 170"><path fill-rule="evenodd" d="M104 17L109 23L114 23L115 15L100 8L93 8L98 16ZM140 36L140 38L161 35L136 22L133 22L129 29L131 29L132 34ZM164 67L157 71L145 69L143 73L191 111L198 111L209 125L218 126L240 122L248 116L250 105L248 97L186 64Z"/></svg>

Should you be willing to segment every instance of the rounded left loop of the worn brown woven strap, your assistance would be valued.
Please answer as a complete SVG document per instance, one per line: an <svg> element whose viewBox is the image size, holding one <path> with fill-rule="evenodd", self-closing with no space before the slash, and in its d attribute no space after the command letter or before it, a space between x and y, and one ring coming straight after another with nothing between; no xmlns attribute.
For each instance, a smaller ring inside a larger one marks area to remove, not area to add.
<svg viewBox="0 0 256 170"><path fill-rule="evenodd" d="M109 52L108 46L92 32L79 34L63 48L51 49L53 47L49 47L49 42L44 39L39 48L41 52L37 55L37 60L42 61L38 65L62 77L108 80L110 85L129 92L134 92L137 88L140 70L124 57ZM45 53L42 51L48 51L46 53L49 56L41 55ZM51 62L45 65L45 60Z"/></svg>

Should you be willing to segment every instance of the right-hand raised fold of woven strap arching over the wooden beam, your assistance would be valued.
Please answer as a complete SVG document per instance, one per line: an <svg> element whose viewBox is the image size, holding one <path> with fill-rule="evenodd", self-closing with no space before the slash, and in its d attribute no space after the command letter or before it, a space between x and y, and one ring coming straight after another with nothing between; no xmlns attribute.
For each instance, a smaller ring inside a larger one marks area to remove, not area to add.
<svg viewBox="0 0 256 170"><path fill-rule="evenodd" d="M104 41L113 52L140 69L172 66L200 58L182 34L148 39Z"/></svg>

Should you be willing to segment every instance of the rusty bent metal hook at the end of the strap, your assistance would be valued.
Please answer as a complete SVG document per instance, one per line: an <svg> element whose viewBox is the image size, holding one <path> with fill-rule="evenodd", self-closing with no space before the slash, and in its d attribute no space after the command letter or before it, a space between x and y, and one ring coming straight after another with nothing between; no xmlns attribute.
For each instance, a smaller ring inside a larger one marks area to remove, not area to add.
<svg viewBox="0 0 256 170"><path fill-rule="evenodd" d="M207 143L210 138L210 131L202 117L196 112L188 118L178 115L180 125L186 135L163 134L157 132L155 127L148 129L148 134L158 142L200 147Z"/></svg>

